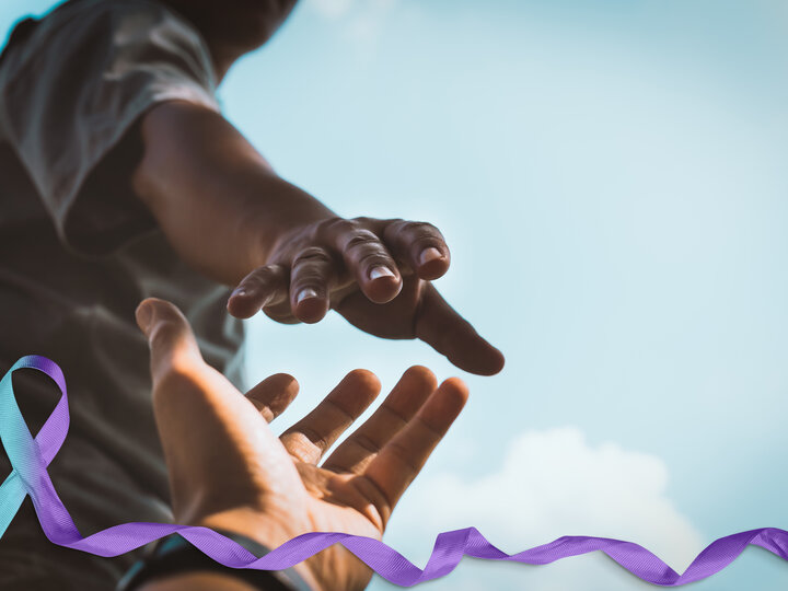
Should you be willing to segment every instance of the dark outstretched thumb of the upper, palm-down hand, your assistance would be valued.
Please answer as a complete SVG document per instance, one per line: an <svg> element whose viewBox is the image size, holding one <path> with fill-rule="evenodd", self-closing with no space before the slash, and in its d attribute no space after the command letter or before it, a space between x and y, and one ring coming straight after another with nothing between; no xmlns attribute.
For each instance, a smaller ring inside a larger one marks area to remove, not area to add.
<svg viewBox="0 0 788 591"><path fill-rule="evenodd" d="M503 355L482 338L432 285L425 286L416 337L470 373L493 375L503 369Z"/></svg>

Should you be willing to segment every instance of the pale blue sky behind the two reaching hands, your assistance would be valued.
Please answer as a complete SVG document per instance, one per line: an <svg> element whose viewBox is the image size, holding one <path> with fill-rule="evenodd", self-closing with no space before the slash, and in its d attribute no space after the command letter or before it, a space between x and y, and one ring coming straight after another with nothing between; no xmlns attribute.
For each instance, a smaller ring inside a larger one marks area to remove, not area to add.
<svg viewBox="0 0 788 591"><path fill-rule="evenodd" d="M3 2L0 27L48 5ZM441 228L453 265L439 288L507 355L500 375L477 378L338 317L251 323L250 376L293 373L294 414L356 367L386 387L413 363L468 382L464 416L395 512L392 545L426 559L440 525L425 515L447 501L418 489L444 480L457 523L487 532L475 519L489 519L496 543L500 515L463 508L464 495L503 470L518 437L563 427L664 470L650 491L691 533L660 531L658 552L788 529L786 33L780 1L303 0L231 71L225 113L282 175L341 215ZM541 482L489 505L518 523L521 493L557 495L570 448L551 448ZM576 521L530 530L522 518L520 536L501 532L505 549L554 531L649 545L638 536L668 528L662 509L605 529L621 512L605 482L637 486L615 465L564 487L569 512L600 495ZM639 588L592 563L468 565L428 589L552 589L554 573L579 577L573 589ZM786 584L788 565L751 549L695 588Z"/></svg>

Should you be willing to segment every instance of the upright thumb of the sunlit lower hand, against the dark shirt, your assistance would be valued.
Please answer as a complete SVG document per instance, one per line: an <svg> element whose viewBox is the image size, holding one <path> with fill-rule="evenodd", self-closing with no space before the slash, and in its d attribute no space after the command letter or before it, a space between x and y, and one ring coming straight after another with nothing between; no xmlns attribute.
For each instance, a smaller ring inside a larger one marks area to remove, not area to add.
<svg viewBox="0 0 788 591"><path fill-rule="evenodd" d="M137 306L135 315L148 338L154 383L173 369L202 361L192 327L174 304L148 298Z"/></svg>

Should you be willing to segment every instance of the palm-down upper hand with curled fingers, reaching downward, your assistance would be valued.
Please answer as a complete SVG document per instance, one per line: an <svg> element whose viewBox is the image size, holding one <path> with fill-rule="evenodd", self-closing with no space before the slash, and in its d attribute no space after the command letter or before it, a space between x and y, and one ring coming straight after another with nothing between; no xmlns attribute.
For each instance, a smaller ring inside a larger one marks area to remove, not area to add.
<svg viewBox="0 0 788 591"><path fill-rule="evenodd" d="M419 338L459 368L489 375L503 356L430 283L449 269L443 236L431 224L333 218L286 234L268 265L247 275L228 310L260 309L282 323L321 321L331 308L383 338Z"/></svg>

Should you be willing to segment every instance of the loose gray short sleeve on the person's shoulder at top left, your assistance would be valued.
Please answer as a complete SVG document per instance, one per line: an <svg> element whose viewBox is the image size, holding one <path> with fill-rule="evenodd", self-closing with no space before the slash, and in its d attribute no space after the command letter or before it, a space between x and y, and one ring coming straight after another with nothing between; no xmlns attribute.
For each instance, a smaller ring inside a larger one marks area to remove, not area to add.
<svg viewBox="0 0 788 591"><path fill-rule="evenodd" d="M125 139L174 100L219 111L205 42L153 1L67 3L4 56L4 139L67 247L101 255L155 227L131 190L141 142Z"/></svg>

